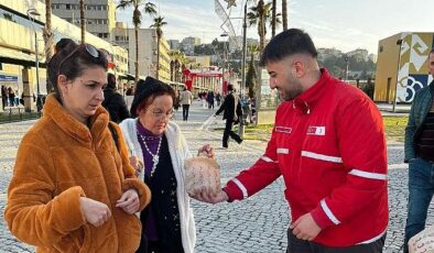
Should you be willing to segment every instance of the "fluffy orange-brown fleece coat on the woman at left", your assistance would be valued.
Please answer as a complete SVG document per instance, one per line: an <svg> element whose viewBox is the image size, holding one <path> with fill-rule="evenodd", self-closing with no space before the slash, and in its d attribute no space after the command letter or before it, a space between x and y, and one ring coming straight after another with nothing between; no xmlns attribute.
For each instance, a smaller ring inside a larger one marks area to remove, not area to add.
<svg viewBox="0 0 434 253"><path fill-rule="evenodd" d="M98 108L90 128L48 96L44 117L21 141L8 190L4 219L21 241L37 252L134 252L141 224L135 215L115 207L123 191L138 190L140 210L149 188L134 177L119 127L119 155L108 129L108 113ZM106 204L110 219L87 223L79 197Z"/></svg>

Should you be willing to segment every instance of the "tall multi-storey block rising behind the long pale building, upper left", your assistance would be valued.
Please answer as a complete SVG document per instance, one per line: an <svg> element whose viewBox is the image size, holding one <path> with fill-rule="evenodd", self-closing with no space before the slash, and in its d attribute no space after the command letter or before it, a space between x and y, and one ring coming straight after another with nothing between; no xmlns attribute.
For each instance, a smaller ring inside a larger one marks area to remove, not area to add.
<svg viewBox="0 0 434 253"><path fill-rule="evenodd" d="M80 26L78 0L52 0L53 14ZM116 28L115 0L85 1L86 31L106 41L113 41L111 30Z"/></svg>

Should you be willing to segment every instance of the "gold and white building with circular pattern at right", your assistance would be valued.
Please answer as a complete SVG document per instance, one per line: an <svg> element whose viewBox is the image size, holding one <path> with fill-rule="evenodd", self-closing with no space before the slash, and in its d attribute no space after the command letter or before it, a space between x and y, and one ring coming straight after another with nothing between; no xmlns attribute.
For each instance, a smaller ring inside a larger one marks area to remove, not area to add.
<svg viewBox="0 0 434 253"><path fill-rule="evenodd" d="M375 101L411 102L414 94L433 77L427 56L434 46L434 33L398 33L379 42Z"/></svg>

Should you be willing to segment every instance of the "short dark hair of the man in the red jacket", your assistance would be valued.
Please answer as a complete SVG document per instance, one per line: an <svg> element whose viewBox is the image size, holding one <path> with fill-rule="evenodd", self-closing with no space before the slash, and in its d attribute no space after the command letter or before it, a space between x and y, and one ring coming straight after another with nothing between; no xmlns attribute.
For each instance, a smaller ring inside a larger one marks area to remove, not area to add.
<svg viewBox="0 0 434 253"><path fill-rule="evenodd" d="M311 36L300 29L290 29L274 36L262 52L260 65L269 62L279 62L294 54L308 54L316 58L315 45Z"/></svg>

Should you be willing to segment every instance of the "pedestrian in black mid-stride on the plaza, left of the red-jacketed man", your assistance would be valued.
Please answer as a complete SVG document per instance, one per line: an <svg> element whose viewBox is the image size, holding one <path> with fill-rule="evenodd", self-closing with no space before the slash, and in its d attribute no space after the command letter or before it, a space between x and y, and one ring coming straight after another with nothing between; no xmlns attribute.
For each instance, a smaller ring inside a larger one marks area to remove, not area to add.
<svg viewBox="0 0 434 253"><path fill-rule="evenodd" d="M215 116L220 114L223 111L225 111L223 119L226 120L225 131L223 133L223 147L228 148L229 136L238 144L241 144L242 139L232 131L234 123L239 122L242 117L241 105L238 96L235 94L234 85L228 85L228 95Z"/></svg>

